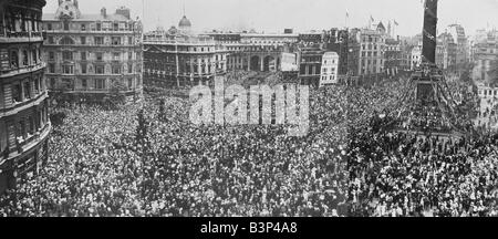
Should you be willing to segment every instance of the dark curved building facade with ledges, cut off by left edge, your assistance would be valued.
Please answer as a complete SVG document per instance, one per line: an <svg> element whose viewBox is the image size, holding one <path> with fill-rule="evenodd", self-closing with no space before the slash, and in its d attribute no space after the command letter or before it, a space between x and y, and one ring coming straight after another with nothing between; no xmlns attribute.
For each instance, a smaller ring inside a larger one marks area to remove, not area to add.
<svg viewBox="0 0 498 239"><path fill-rule="evenodd" d="M48 159L51 124L42 61L44 0L0 4L0 194Z"/></svg>

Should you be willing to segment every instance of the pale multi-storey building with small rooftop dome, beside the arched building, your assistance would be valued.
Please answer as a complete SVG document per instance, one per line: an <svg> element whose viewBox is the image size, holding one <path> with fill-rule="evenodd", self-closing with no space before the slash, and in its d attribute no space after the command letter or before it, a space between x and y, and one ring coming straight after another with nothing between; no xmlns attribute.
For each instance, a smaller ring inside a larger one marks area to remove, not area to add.
<svg viewBox="0 0 498 239"><path fill-rule="evenodd" d="M227 50L209 35L193 35L185 28L191 24L184 17L169 31L144 35L145 84L185 87L212 82L227 71Z"/></svg>

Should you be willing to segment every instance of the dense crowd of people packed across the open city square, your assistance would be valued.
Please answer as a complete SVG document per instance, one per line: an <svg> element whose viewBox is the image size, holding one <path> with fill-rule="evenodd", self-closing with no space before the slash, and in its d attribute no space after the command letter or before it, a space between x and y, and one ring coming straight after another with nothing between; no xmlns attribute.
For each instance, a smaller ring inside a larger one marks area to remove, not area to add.
<svg viewBox="0 0 498 239"><path fill-rule="evenodd" d="M279 77L235 72L226 85ZM115 110L58 105L46 165L0 197L0 216L496 216L489 137L443 145L383 129L404 87L312 90L303 137L196 126L190 100L158 90Z"/></svg>

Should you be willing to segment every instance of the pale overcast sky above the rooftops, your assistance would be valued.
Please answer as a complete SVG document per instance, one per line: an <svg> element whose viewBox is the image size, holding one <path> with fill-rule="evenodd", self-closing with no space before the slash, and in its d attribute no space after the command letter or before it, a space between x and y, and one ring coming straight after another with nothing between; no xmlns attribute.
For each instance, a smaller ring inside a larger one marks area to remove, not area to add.
<svg viewBox="0 0 498 239"><path fill-rule="evenodd" d="M46 0L44 12L54 13L58 0ZM143 8L143 2L145 7ZM120 6L144 20L145 29L177 25L187 18L197 31L212 29L256 29L266 32L322 30L346 24L364 27L370 15L375 21L396 20L396 34L414 35L422 31L422 0L80 0L82 12L97 13L102 7L113 12ZM143 14L145 12L145 17ZM498 0L439 0L439 31L460 23L467 34L487 24L498 27Z"/></svg>

